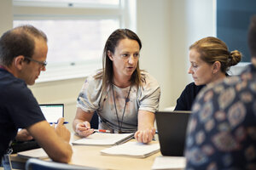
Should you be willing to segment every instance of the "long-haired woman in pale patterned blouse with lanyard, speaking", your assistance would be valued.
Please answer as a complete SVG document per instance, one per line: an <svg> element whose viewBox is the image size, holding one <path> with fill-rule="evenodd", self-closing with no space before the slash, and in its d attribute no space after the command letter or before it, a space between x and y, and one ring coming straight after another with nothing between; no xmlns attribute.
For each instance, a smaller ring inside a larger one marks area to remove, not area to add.
<svg viewBox="0 0 256 170"><path fill-rule="evenodd" d="M99 128L112 133L135 133L139 142L150 142L155 133L154 112L158 110L160 86L139 69L142 42L128 29L113 31L102 56L102 70L87 77L79 94L73 129L86 137L94 132L94 112Z"/></svg>

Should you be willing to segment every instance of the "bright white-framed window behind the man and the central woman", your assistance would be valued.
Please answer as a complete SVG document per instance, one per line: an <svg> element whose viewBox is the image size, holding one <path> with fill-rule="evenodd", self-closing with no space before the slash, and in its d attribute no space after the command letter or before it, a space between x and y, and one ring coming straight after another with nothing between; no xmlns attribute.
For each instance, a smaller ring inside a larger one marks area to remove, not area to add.
<svg viewBox="0 0 256 170"><path fill-rule="evenodd" d="M31 24L48 37L49 65L37 82L87 76L102 67L103 47L114 30L135 31L133 1L14 0L13 4L14 26Z"/></svg>

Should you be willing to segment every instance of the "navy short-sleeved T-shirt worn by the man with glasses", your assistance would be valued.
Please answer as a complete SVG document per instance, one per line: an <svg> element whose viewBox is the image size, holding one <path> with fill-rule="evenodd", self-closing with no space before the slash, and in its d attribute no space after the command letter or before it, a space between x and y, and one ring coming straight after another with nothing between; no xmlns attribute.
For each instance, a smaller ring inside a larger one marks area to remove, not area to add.
<svg viewBox="0 0 256 170"><path fill-rule="evenodd" d="M18 128L44 121L37 100L26 83L0 68L0 158L5 154Z"/></svg>

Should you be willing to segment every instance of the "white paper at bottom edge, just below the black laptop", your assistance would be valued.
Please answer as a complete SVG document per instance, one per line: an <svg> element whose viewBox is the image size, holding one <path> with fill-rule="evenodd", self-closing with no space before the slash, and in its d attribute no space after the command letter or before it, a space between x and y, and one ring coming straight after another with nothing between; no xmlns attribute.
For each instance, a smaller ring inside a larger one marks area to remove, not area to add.
<svg viewBox="0 0 256 170"><path fill-rule="evenodd" d="M153 170L160 169L172 169L179 170L184 169L186 165L186 159L183 156L158 156L154 159L152 166Z"/></svg>

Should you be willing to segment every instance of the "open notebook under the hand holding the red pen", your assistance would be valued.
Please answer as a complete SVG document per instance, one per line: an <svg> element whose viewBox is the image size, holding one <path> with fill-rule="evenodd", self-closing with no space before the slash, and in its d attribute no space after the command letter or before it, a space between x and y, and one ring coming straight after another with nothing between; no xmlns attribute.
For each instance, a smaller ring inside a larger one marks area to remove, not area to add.
<svg viewBox="0 0 256 170"><path fill-rule="evenodd" d="M134 133L93 133L90 136L78 139L73 144L87 145L116 145L133 138Z"/></svg>

